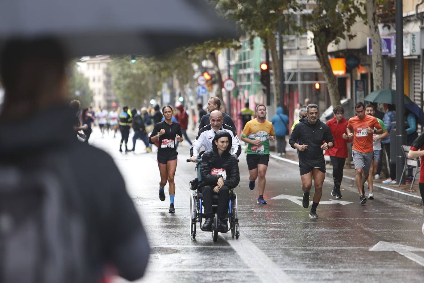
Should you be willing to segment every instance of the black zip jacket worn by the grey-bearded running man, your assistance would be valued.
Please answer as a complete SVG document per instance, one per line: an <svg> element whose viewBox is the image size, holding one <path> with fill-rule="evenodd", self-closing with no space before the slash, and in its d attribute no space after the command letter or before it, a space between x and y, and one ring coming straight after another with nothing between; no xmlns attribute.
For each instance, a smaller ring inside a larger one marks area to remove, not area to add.
<svg viewBox="0 0 424 283"><path fill-rule="evenodd" d="M330 128L319 119L315 124L310 124L307 117L301 118L289 139L293 149L295 143L308 146L304 151L299 151L299 166L325 166L323 150L320 148L324 141L334 143Z"/></svg>

